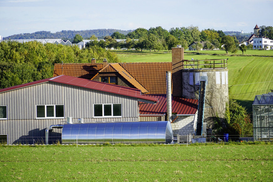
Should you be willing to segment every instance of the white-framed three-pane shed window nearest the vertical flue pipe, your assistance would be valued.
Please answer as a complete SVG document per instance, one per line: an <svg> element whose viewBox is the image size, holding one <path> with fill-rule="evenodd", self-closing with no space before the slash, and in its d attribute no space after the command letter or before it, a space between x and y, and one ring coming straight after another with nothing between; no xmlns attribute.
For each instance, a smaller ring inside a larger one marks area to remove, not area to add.
<svg viewBox="0 0 273 182"><path fill-rule="evenodd" d="M121 117L121 104L94 104L94 117Z"/></svg>

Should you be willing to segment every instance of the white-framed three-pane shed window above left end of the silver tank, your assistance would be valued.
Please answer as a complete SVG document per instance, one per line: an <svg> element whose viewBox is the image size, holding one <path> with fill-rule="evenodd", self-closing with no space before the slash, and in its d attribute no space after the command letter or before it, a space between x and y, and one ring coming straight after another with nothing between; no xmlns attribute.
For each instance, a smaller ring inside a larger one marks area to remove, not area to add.
<svg viewBox="0 0 273 182"><path fill-rule="evenodd" d="M64 105L36 105L36 118L64 118Z"/></svg>

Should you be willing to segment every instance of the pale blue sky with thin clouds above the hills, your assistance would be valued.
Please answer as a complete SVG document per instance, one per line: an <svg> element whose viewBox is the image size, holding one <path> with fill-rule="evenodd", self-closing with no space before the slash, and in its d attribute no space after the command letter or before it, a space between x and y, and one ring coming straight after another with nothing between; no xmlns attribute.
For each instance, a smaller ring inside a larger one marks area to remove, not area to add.
<svg viewBox="0 0 273 182"><path fill-rule="evenodd" d="M0 35L161 26L253 32L273 26L273 0L0 0Z"/></svg>

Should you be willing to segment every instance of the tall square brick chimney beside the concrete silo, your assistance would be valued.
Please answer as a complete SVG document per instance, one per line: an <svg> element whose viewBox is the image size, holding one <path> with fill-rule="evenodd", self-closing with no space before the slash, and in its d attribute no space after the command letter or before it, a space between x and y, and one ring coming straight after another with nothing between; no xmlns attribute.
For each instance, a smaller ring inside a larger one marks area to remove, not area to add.
<svg viewBox="0 0 273 182"><path fill-rule="evenodd" d="M182 97L182 69L184 59L184 48L178 45L172 48L172 81L173 81L173 96Z"/></svg>

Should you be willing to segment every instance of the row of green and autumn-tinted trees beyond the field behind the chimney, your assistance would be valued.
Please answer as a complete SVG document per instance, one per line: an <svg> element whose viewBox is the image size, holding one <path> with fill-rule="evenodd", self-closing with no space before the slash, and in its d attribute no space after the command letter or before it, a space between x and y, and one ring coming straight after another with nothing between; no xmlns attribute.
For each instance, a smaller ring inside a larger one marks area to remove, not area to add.
<svg viewBox="0 0 273 182"><path fill-rule="evenodd" d="M82 37L77 34L74 37L73 43L82 41ZM228 36L222 30L205 29L199 31L196 26L171 28L169 31L162 27L156 28L137 28L133 32L129 32L127 35L114 32L111 36L105 36L104 39L97 40L95 35L89 38L91 41L87 43L86 47L98 46L101 48L114 48L114 49L135 49L143 50L148 49L150 51L171 50L176 45L181 45L185 49L195 42L191 47L199 51L201 48L205 49L221 49L221 45L224 44L226 53L235 53L240 49L239 41L236 36ZM117 39L123 39L122 41L116 41ZM96 41L97 40L97 41ZM200 43L204 41L204 45ZM252 45L242 45L242 52L246 49L252 49Z"/></svg>

